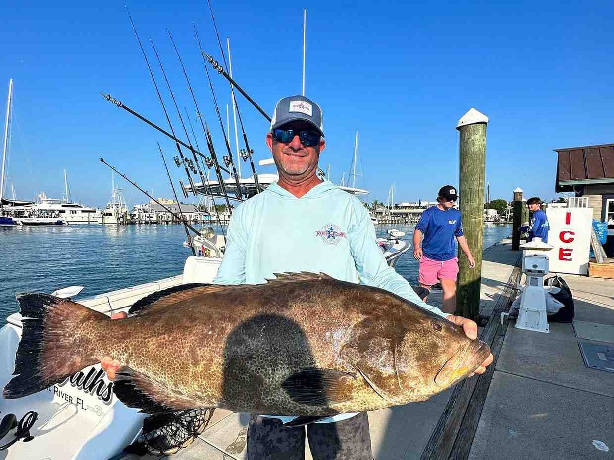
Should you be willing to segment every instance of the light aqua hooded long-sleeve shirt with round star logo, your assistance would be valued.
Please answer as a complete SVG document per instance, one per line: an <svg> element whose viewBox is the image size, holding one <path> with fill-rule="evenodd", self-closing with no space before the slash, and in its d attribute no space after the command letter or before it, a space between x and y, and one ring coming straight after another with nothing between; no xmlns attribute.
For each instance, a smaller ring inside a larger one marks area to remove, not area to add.
<svg viewBox="0 0 614 460"><path fill-rule="evenodd" d="M381 287L443 318L448 316L423 302L406 279L387 265L365 206L330 181L300 198L273 182L235 209L226 238L215 284L262 284L274 279L274 273L311 271ZM318 423L354 415L335 415ZM295 417L275 418L287 423Z"/></svg>

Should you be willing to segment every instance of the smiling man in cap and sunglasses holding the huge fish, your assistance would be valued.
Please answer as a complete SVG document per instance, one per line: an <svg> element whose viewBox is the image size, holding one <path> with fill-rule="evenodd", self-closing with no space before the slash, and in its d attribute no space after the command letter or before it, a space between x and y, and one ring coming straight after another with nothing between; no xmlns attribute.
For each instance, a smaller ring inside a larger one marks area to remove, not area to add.
<svg viewBox="0 0 614 460"><path fill-rule="evenodd" d="M410 284L388 267L376 245L375 228L362 203L332 182L317 177L319 156L325 147L322 110L318 104L305 96L282 98L276 104L266 144L273 154L279 179L236 208L228 226L227 249L215 284L263 284L267 279L273 279L276 273L324 273L336 280L360 282L392 292L402 297L403 302L429 310L430 316L423 316L427 320L431 318L428 321L435 332L441 331L446 321L440 324L433 318L446 318L462 327L466 336L476 344L472 345L473 348L480 348L475 340L475 322L445 314L422 302ZM333 302L334 299L330 300ZM370 299L361 299L359 292L356 303L361 302L368 303ZM327 306L324 305L324 312ZM309 314L308 311L305 313ZM119 316L123 317L125 315ZM333 337L325 336L322 340L333 340ZM397 345L394 346L395 360L403 354L400 342ZM492 354L484 357L483 362L480 357L480 362L473 365L473 372L483 373L491 364ZM448 367L453 359L450 358L443 368ZM109 357L103 360L109 378L114 378L121 364ZM394 365L397 365L396 361ZM383 389L384 385L365 371L368 364L357 364L356 368L379 394L378 397L394 400ZM444 369L437 373L435 381L443 379ZM460 372L458 369L458 364L454 364L448 374ZM424 373L427 373L426 367ZM397 371L396 380L400 378L398 375ZM455 383L455 378L447 375L441 385ZM298 377L292 381L298 381ZM284 384L291 393L292 384L287 381ZM294 396L296 400L300 399ZM422 399L416 397L412 400ZM247 458L303 459L303 425L306 425L309 448L316 460L373 458L368 418L364 411L298 418L287 414L252 414L247 434Z"/></svg>

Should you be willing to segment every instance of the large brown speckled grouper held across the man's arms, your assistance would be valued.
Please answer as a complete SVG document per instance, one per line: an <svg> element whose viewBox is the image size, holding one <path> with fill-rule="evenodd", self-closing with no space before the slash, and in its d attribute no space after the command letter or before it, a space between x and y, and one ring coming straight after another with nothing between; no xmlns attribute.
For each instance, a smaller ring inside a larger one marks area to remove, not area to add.
<svg viewBox="0 0 614 460"><path fill-rule="evenodd" d="M49 294L18 294L23 335L4 397L112 356L122 362L114 392L129 407L221 407L298 416L298 425L426 400L489 356L462 327L387 290L322 274L276 276L161 290L119 320Z"/></svg>

